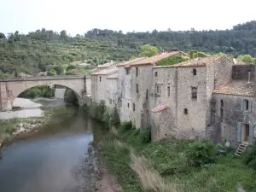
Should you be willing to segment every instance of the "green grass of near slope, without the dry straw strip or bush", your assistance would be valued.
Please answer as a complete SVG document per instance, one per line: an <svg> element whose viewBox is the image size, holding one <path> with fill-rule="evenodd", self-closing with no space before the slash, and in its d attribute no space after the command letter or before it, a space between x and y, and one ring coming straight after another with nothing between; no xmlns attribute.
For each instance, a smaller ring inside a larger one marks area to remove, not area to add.
<svg viewBox="0 0 256 192"><path fill-rule="evenodd" d="M177 186L178 191L231 192L241 183L247 191L256 191L256 172L244 166L234 151L227 156L217 157L217 162L204 167L190 167L183 158L183 150L191 141L163 141L143 144L137 137L138 131L119 131L119 136L108 133L102 138L100 151L108 171L114 174L124 191L143 191L137 174L132 171L129 150L120 150L116 139L135 149L136 154L145 156L152 168L163 179ZM115 138L115 139L114 139Z"/></svg>

